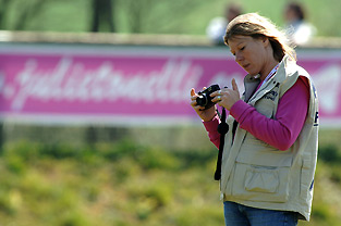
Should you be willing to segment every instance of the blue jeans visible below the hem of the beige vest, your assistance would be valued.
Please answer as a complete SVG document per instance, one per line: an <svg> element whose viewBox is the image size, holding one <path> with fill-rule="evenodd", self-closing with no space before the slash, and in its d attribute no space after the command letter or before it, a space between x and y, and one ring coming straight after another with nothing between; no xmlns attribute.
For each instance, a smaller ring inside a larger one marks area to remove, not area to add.
<svg viewBox="0 0 341 226"><path fill-rule="evenodd" d="M223 202L226 226L296 226L297 213Z"/></svg>

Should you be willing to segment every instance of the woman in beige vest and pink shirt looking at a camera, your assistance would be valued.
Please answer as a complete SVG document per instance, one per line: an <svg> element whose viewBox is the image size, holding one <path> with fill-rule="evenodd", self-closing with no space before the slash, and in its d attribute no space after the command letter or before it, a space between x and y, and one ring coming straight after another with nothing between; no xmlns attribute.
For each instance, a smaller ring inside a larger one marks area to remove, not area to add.
<svg viewBox="0 0 341 226"><path fill-rule="evenodd" d="M309 219L317 159L318 102L310 76L266 17L243 14L227 27L224 42L247 75L240 98L232 89L211 93L229 111L220 189L227 226L296 225ZM210 140L219 147L216 106L196 103Z"/></svg>

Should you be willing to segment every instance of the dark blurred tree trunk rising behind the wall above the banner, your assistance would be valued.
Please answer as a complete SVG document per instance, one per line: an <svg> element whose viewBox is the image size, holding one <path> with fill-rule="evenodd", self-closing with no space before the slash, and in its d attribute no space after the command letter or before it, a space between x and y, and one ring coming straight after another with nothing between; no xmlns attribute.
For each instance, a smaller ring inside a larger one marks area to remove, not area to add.
<svg viewBox="0 0 341 226"><path fill-rule="evenodd" d="M115 32L112 7L115 0L92 0L93 23L90 32ZM101 28L101 29L100 29Z"/></svg>

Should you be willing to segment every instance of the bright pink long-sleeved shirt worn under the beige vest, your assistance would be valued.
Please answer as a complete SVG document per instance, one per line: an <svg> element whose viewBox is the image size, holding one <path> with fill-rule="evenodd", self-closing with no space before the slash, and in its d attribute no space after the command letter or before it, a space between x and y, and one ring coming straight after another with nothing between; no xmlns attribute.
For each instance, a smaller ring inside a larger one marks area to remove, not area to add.
<svg viewBox="0 0 341 226"><path fill-rule="evenodd" d="M297 81L279 100L276 120L266 117L242 100L232 105L230 114L239 122L241 128L257 139L279 150L287 150L295 142L302 130L308 105L308 81L305 77L300 76ZM219 123L218 116L209 122L204 122L209 139L217 148L220 143L220 134L217 131Z"/></svg>

